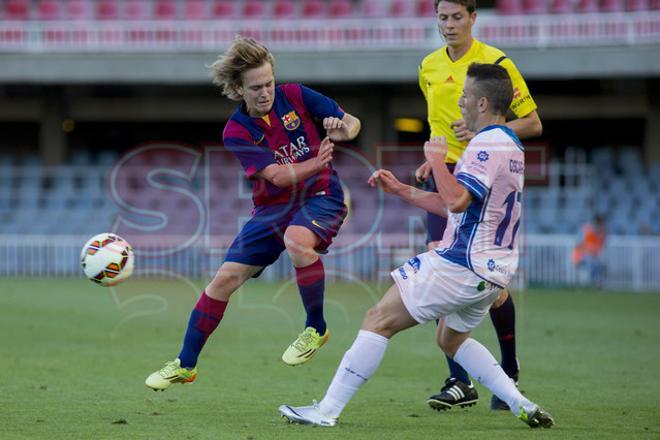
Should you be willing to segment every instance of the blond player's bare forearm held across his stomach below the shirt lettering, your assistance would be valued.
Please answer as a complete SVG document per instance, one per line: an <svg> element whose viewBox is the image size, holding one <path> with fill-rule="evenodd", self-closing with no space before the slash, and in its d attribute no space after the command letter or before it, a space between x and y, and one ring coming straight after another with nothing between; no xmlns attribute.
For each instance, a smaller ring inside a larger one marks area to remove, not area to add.
<svg viewBox="0 0 660 440"><path fill-rule="evenodd" d="M275 186L288 188L324 170L332 160L335 144L329 138L323 139L316 157L294 164L272 164L255 174L258 179L266 179Z"/></svg>

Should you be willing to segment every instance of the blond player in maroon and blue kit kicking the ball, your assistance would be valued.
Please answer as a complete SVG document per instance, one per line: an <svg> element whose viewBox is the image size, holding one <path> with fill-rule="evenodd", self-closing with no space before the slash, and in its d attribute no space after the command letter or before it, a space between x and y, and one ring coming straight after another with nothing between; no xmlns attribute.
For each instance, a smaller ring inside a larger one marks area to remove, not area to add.
<svg viewBox="0 0 660 440"><path fill-rule="evenodd" d="M214 83L241 102L223 140L253 183L255 206L193 309L180 354L147 377L146 385L154 390L195 380L197 358L230 296L284 250L296 270L307 321L282 360L292 366L305 363L328 340L325 272L318 254L327 251L346 217L344 194L331 165L333 142L354 139L360 121L301 84L276 86L274 67L266 47L241 37L212 66ZM316 120L327 133L323 139Z"/></svg>

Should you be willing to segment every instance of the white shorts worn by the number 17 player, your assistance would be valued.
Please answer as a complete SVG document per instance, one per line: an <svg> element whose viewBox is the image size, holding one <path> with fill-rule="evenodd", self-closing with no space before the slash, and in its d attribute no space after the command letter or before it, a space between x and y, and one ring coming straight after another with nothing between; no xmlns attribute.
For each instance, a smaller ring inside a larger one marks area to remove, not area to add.
<svg viewBox="0 0 660 440"><path fill-rule="evenodd" d="M444 319L456 331L479 325L502 289L439 256L420 254L392 271L408 313L420 324Z"/></svg>

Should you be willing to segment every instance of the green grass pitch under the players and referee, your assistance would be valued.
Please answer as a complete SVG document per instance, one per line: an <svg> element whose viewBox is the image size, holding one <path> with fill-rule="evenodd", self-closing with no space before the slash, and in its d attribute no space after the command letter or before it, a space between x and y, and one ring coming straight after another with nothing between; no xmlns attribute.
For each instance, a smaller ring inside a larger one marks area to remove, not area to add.
<svg viewBox="0 0 660 440"><path fill-rule="evenodd" d="M250 282L200 358L190 385L155 393L145 377L178 354L201 283L0 279L2 439L660 438L660 295L514 295L521 389L557 425L527 428L488 409L437 413L425 398L446 365L434 326L396 336L334 429L289 425L282 403L323 397L366 309L384 287L328 286L332 337L307 365L280 356L301 330L295 285ZM476 330L496 357L489 320Z"/></svg>

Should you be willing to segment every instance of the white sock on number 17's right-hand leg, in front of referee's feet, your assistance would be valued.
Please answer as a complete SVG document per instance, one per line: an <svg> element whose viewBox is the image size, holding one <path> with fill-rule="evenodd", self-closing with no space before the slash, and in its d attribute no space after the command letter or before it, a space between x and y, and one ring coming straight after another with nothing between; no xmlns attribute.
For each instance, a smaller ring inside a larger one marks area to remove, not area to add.
<svg viewBox="0 0 660 440"><path fill-rule="evenodd" d="M506 402L514 415L518 415L520 407L525 408L525 411L531 411L534 407L534 403L520 394L513 380L502 370L490 351L474 339L467 339L458 347L454 360L470 376Z"/></svg>

